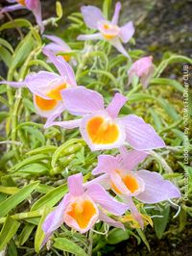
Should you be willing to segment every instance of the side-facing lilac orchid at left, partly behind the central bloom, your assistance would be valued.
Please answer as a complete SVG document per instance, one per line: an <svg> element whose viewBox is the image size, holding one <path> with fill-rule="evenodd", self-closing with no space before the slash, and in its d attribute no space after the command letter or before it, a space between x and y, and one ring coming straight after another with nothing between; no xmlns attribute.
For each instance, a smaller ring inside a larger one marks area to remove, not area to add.
<svg viewBox="0 0 192 256"><path fill-rule="evenodd" d="M12 87L27 87L34 94L36 113L52 119L64 111L61 90L77 87L72 67L61 56L56 57L52 52L43 50L50 62L55 64L60 74L48 71L39 71L26 76L23 82L1 81Z"/></svg>

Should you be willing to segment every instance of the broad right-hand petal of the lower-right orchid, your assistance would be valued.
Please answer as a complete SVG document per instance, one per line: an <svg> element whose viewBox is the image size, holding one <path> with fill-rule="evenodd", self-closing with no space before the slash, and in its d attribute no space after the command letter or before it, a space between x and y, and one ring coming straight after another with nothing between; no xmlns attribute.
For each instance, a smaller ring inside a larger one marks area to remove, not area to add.
<svg viewBox="0 0 192 256"><path fill-rule="evenodd" d="M180 197L180 190L172 182L164 180L159 173L141 169L137 171L137 174L145 182L145 191L136 196L140 201L157 203Z"/></svg>

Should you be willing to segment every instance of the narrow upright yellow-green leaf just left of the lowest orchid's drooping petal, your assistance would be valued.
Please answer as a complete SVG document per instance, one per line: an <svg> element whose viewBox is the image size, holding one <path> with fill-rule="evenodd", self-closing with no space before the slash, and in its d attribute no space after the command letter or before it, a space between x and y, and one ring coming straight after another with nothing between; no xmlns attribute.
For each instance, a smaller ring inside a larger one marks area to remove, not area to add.
<svg viewBox="0 0 192 256"><path fill-rule="evenodd" d="M35 249L36 249L37 253L40 251L40 247L41 247L42 242L43 242L44 237L45 237L44 231L42 230L42 223L44 222L45 218L47 217L47 215L49 213L50 213L50 209L46 207L43 211L43 214L42 214L42 216L40 218L40 221L38 223L38 227L36 229Z"/></svg>

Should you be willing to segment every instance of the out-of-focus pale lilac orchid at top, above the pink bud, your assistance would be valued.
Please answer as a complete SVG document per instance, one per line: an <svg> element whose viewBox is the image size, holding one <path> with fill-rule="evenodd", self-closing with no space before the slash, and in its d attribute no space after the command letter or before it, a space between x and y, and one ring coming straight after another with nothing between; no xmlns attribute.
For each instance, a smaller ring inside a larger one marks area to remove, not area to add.
<svg viewBox="0 0 192 256"><path fill-rule="evenodd" d="M115 11L111 21L108 21L100 9L94 6L84 6L81 11L84 16L84 22L87 27L99 30L99 33L93 35L80 35L79 40L94 40L105 39L108 40L120 53L129 57L129 54L122 45L122 42L127 43L134 34L132 21L126 23L124 26L117 25L119 13L121 10L121 3L115 5Z"/></svg>

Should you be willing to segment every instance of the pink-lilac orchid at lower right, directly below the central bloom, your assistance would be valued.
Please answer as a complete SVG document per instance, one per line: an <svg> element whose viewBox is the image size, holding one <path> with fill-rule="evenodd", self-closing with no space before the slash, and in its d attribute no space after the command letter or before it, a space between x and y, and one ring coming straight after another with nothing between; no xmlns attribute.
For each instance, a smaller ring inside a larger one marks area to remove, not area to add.
<svg viewBox="0 0 192 256"><path fill-rule="evenodd" d="M135 170L135 167L146 157L145 152L128 151L125 148L121 148L120 154L116 157L101 155L92 174L105 174L90 182L90 184L99 183L105 189L111 189L118 194L127 203L132 216L141 227L143 227L143 220L132 197L147 204L180 197L180 190L172 182L164 180L159 173L146 169Z"/></svg>

